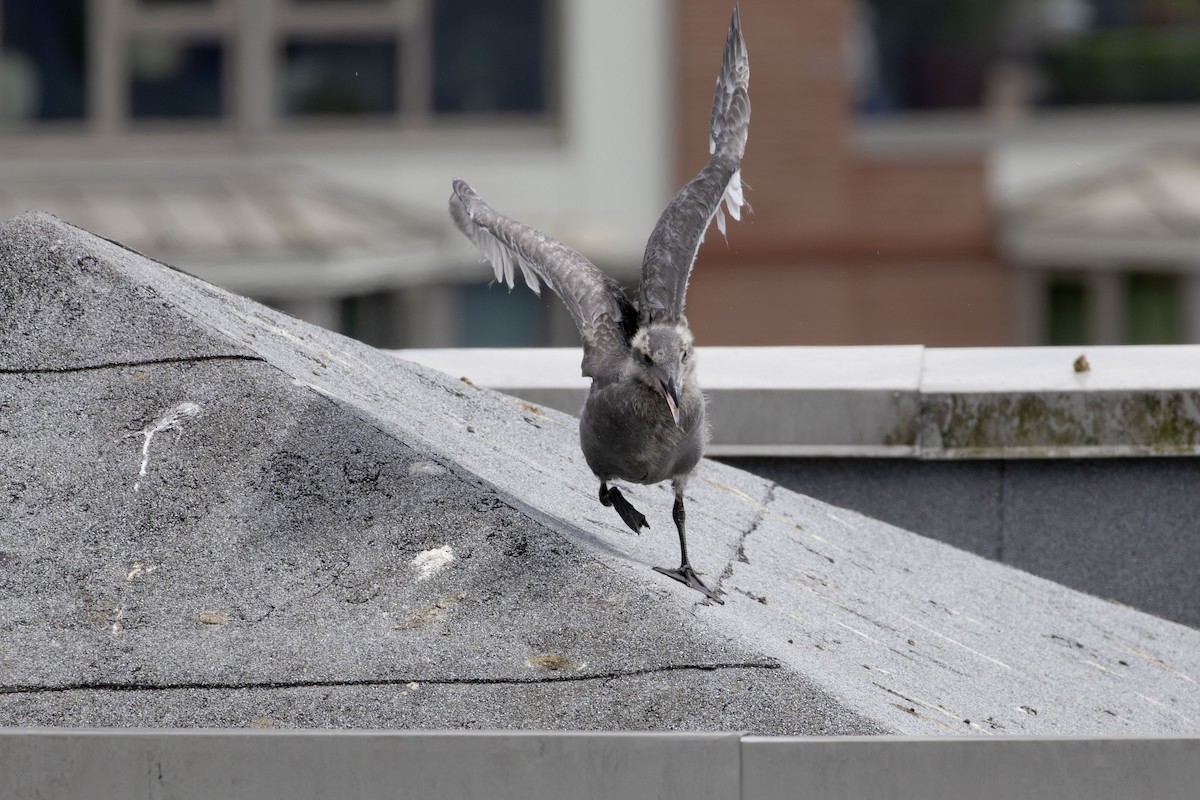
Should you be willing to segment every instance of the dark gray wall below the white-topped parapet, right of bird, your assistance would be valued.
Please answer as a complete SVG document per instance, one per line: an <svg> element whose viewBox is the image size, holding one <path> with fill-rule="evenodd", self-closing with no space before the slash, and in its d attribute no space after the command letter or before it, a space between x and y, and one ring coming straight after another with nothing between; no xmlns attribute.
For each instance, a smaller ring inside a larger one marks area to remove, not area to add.
<svg viewBox="0 0 1200 800"><path fill-rule="evenodd" d="M1200 628L1200 458L721 461Z"/></svg>

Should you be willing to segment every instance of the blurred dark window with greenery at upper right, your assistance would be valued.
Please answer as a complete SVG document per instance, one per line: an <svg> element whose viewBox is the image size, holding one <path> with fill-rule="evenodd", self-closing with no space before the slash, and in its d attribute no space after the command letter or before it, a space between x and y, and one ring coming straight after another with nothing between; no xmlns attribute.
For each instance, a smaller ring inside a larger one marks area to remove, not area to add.
<svg viewBox="0 0 1200 800"><path fill-rule="evenodd" d="M868 114L1200 102L1195 0L859 0Z"/></svg>

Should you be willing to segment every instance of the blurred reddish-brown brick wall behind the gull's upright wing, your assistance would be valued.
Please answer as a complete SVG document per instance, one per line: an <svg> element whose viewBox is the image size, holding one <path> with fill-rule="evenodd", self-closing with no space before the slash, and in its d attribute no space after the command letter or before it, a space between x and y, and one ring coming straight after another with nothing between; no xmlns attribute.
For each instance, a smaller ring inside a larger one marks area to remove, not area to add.
<svg viewBox="0 0 1200 800"><path fill-rule="evenodd" d="M852 0L743 0L754 213L710 233L689 291L706 344L1009 344L1012 288L982 155L856 152ZM678 182L704 126L730 0L676 0Z"/></svg>

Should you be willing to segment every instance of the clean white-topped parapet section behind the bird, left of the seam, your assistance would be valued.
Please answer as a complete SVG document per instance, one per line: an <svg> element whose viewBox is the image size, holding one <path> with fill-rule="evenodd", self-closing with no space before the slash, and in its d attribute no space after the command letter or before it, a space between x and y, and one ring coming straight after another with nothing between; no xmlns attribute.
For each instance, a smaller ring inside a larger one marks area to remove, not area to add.
<svg viewBox="0 0 1200 800"><path fill-rule="evenodd" d="M916 456L924 348L702 347L712 456ZM479 386L578 414L580 348L396 350Z"/></svg>

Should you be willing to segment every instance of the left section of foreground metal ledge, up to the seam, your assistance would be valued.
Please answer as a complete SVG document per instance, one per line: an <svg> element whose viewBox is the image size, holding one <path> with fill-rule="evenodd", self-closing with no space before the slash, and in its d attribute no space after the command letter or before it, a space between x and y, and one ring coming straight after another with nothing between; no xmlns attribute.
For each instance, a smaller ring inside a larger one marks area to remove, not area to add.
<svg viewBox="0 0 1200 800"><path fill-rule="evenodd" d="M731 800L736 733L0 730L5 800Z"/></svg>

